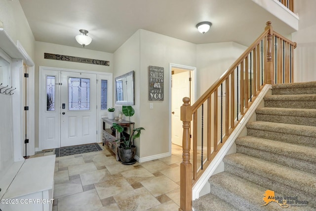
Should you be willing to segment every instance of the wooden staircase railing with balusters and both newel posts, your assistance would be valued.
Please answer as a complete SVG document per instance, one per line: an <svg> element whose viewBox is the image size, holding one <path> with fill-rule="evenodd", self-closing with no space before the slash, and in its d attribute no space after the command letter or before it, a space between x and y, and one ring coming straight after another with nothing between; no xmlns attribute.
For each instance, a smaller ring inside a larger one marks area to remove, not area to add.
<svg viewBox="0 0 316 211"><path fill-rule="evenodd" d="M183 98L180 211L192 210L192 186L212 162L264 84L293 82L295 42L265 31L192 106ZM191 127L192 122L192 127ZM191 134L193 164L190 159Z"/></svg>

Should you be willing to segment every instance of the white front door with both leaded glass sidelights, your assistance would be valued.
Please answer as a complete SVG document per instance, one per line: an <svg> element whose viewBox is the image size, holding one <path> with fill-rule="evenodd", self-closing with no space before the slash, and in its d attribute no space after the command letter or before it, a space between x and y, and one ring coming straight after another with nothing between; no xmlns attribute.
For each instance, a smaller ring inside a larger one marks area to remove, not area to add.
<svg viewBox="0 0 316 211"><path fill-rule="evenodd" d="M111 87L109 73L40 67L39 150L101 142Z"/></svg>

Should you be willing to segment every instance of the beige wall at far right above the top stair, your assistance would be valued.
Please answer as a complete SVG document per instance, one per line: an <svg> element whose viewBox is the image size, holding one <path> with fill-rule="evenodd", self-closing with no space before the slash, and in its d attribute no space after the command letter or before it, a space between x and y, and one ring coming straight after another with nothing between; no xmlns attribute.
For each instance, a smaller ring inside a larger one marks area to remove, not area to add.
<svg viewBox="0 0 316 211"><path fill-rule="evenodd" d="M294 82L316 81L316 1L296 0L294 3L294 12L300 18L299 31L292 34L292 40L297 42Z"/></svg>

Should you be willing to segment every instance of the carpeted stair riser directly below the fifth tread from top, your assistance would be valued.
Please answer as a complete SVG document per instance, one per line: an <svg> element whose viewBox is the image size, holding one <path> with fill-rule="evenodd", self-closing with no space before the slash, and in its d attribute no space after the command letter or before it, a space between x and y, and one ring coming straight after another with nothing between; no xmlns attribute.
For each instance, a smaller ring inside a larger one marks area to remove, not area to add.
<svg viewBox="0 0 316 211"><path fill-rule="evenodd" d="M242 146L238 144L237 144L237 152L246 154L252 157L260 158L269 162L281 164L283 166L287 166L294 169L299 169L299 170L316 174L316 163L311 163L308 161L303 161L303 160L298 159L300 158L299 154L297 155L297 158L291 158L288 156L278 155L272 152L258 150L255 148L250 148L250 147L246 147L246 146Z"/></svg>

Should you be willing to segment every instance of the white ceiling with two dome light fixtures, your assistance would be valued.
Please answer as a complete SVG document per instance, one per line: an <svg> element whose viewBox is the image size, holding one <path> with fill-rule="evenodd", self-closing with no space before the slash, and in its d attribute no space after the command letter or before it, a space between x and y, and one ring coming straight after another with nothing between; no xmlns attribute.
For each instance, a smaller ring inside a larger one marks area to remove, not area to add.
<svg viewBox="0 0 316 211"><path fill-rule="evenodd" d="M272 21L283 35L294 30L252 0L19 0L35 40L81 47L79 29L92 38L87 49L113 53L138 29L196 44L251 44ZM251 9L244 9L251 8ZM209 32L196 25L210 21Z"/></svg>

